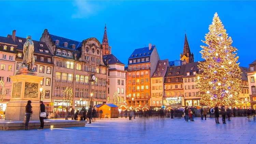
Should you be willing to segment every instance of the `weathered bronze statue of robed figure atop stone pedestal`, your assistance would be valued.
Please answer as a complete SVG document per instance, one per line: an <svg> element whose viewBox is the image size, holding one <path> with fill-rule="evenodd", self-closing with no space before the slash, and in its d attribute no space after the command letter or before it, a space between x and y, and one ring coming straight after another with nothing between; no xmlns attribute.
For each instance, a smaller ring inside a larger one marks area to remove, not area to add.
<svg viewBox="0 0 256 144"><path fill-rule="evenodd" d="M27 41L23 46L23 64L28 68L28 71L32 71L35 63L34 59L34 43L31 36L27 36Z"/></svg>

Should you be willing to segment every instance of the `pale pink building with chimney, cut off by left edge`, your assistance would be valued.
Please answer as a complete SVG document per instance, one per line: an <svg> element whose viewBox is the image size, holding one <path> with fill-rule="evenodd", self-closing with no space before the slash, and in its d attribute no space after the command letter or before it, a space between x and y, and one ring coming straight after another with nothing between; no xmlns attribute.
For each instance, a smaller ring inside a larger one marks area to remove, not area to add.
<svg viewBox="0 0 256 144"><path fill-rule="evenodd" d="M15 33L14 30L11 38L0 37L0 81L4 84L3 86L0 83L0 111L5 111L6 103L10 101L11 97L11 78L10 76L14 75L15 71L15 57L17 44L15 44Z"/></svg>

